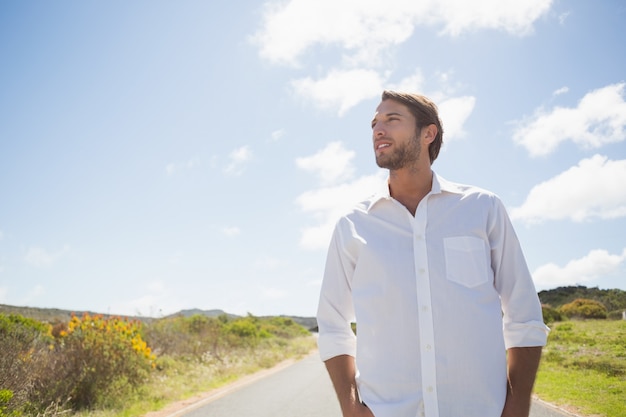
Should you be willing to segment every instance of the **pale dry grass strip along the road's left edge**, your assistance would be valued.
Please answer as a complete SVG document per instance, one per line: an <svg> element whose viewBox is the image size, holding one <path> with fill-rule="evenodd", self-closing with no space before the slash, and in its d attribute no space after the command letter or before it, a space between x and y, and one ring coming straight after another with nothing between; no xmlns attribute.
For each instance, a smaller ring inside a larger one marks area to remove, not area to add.
<svg viewBox="0 0 626 417"><path fill-rule="evenodd" d="M130 401L123 410L90 410L71 414L73 417L140 417L150 411L206 393L243 376L268 369L278 363L298 359L316 346L312 336L290 339L287 342L265 341L255 349L231 352L219 360L212 357L201 361L181 361L162 358L161 370Z"/></svg>

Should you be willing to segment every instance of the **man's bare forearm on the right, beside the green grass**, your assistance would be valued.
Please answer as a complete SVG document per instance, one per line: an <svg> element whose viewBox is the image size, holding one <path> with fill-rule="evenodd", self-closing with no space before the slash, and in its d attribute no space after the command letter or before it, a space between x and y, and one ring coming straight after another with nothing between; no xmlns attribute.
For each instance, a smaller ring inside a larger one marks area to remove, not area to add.
<svg viewBox="0 0 626 417"><path fill-rule="evenodd" d="M541 346L508 350L508 386L502 417L528 417L540 359Z"/></svg>

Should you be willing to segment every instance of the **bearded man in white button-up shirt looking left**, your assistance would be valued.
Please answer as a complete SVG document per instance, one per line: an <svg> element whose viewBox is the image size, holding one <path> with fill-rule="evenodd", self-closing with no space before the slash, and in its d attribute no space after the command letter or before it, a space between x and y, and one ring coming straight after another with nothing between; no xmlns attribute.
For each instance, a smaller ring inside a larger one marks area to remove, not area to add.
<svg viewBox="0 0 626 417"><path fill-rule="evenodd" d="M527 417L548 329L503 204L433 173L426 97L385 91L372 131L387 186L338 221L317 316L343 416Z"/></svg>

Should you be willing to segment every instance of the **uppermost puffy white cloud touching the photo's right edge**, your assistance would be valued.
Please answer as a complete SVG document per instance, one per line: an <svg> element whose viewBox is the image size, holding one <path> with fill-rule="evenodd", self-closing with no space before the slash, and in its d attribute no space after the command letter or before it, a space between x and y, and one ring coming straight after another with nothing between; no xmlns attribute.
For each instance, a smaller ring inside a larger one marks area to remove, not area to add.
<svg viewBox="0 0 626 417"><path fill-rule="evenodd" d="M545 156L566 140L585 149L626 140L626 83L587 93L577 107L538 110L514 133L513 140L532 156Z"/></svg>

